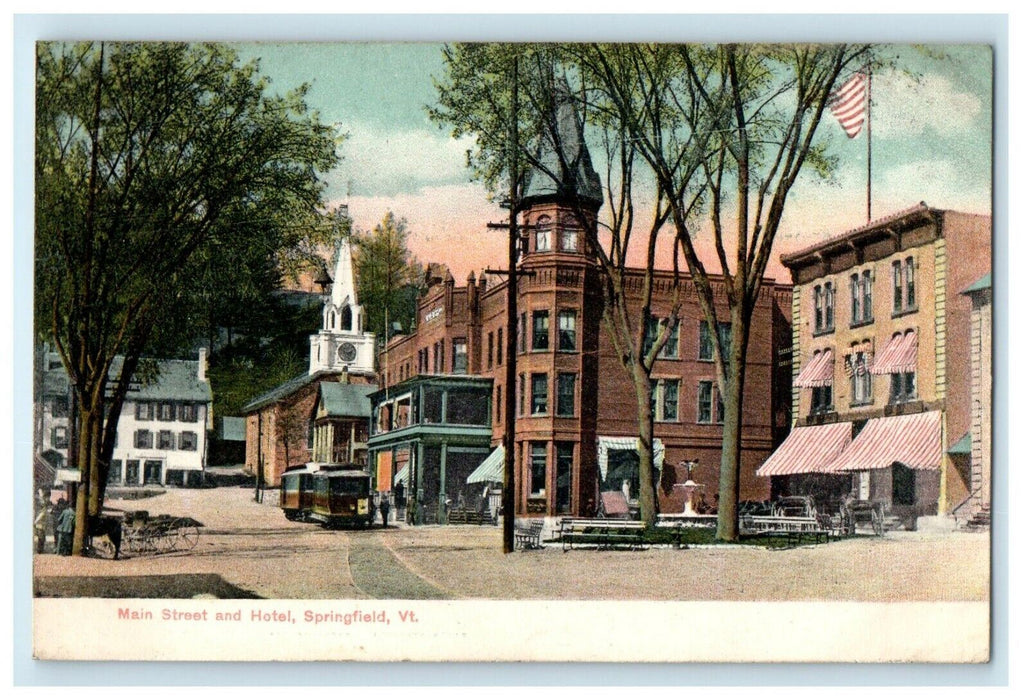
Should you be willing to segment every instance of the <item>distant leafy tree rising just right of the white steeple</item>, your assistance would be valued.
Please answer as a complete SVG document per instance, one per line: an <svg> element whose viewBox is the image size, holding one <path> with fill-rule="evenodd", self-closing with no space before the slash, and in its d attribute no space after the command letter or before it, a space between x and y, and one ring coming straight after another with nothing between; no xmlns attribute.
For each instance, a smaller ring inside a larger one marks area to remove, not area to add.
<svg viewBox="0 0 1029 700"><path fill-rule="evenodd" d="M407 249L407 220L387 211L383 220L369 232L357 234L353 241L357 297L364 306L364 329L386 336L389 324L400 323L411 329L417 308L412 288L420 283L418 261Z"/></svg>

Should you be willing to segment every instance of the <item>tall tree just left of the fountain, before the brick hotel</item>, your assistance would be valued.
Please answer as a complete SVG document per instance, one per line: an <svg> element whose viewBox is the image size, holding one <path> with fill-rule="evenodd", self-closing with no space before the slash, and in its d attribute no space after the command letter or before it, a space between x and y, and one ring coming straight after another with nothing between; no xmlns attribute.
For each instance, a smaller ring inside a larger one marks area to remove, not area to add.
<svg viewBox="0 0 1029 700"><path fill-rule="evenodd" d="M584 112L593 128L593 136L603 149L604 195L606 210L598 220L593 208L582 201L569 202L579 225L587 232L586 241L595 256L604 285L603 322L626 373L633 382L636 395L638 453L640 478L640 517L652 525L657 520L657 484L653 479L653 404L650 374L661 350L678 325L681 287L678 276L673 297L667 309L657 316L652 308L655 260L663 226L671 211L667 197L655 182L638 177L640 152L629 138L625 125L613 108L576 99L568 86L574 77L575 58L567 46L554 44L459 44L448 46L445 60L447 80L437 81L439 106L431 116L441 124L453 125L455 137L476 137L476 150L469 153L469 164L476 177L498 191L503 184L503 167L509 160L507 120L512 110L518 115L519 133L524 138L517 144L518 198L521 199L529 172L534 177L549 178L561 185L574 164L569 162L568 126L578 124ZM517 105L507 98L503 87L510 80L511 66L518 62L520 95ZM563 69L563 71L562 71ZM559 74L562 72L563 74ZM586 89L580 83L580 91ZM686 136L680 146L688 163L698 171L700 151L694 139ZM649 195L652 209L639 214L638 191ZM595 203L596 204L596 203ZM516 211L518 206L516 203ZM637 226L637 219L642 225ZM633 239L644 239L646 264L642 270L629 265ZM678 255L673 264L678 265ZM638 275L642 275L642 294L628 291ZM654 329L653 325L657 325Z"/></svg>

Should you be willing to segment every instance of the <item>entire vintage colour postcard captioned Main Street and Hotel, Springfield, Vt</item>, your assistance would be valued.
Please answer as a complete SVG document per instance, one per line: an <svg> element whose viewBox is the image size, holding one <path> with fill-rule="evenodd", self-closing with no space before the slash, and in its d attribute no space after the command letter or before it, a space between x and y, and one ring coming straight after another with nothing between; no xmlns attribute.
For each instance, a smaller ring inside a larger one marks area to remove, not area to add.
<svg viewBox="0 0 1029 700"><path fill-rule="evenodd" d="M36 658L990 660L990 45L35 51Z"/></svg>

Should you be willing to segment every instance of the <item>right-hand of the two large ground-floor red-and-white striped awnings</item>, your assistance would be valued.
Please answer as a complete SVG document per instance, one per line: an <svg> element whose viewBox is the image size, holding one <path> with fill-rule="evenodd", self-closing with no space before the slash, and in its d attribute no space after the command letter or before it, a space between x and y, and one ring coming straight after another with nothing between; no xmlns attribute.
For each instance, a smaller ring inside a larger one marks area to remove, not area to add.
<svg viewBox="0 0 1029 700"><path fill-rule="evenodd" d="M900 462L910 469L938 469L943 435L938 411L874 418L827 471L885 469Z"/></svg>

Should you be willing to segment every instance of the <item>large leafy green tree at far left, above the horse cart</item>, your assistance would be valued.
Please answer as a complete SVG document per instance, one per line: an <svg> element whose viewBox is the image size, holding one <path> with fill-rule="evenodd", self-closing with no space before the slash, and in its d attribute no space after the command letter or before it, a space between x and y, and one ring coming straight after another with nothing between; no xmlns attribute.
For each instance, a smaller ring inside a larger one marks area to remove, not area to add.
<svg viewBox="0 0 1029 700"><path fill-rule="evenodd" d="M207 284L288 267L336 139L225 46L40 43L36 75L36 329L77 408L80 553L140 358L204 327Z"/></svg>

